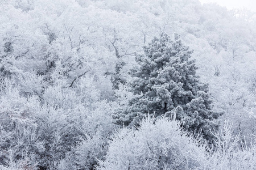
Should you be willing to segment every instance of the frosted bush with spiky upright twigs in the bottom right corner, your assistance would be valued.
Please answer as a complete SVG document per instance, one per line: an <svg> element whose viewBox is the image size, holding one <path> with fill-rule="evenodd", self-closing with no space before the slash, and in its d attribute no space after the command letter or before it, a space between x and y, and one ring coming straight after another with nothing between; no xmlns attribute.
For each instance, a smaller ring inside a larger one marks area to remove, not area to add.
<svg viewBox="0 0 256 170"><path fill-rule="evenodd" d="M255 169L255 141L247 146L239 136L233 135L232 125L226 122L221 132L216 134L217 147L209 154L208 169Z"/></svg>

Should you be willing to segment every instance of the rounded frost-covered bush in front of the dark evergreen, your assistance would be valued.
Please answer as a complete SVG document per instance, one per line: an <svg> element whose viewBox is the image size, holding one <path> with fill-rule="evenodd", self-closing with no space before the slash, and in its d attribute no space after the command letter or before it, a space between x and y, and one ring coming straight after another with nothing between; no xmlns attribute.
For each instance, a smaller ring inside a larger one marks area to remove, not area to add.
<svg viewBox="0 0 256 170"><path fill-rule="evenodd" d="M189 169L207 164L205 143L169 118L146 118L138 130L123 128L98 169Z"/></svg>

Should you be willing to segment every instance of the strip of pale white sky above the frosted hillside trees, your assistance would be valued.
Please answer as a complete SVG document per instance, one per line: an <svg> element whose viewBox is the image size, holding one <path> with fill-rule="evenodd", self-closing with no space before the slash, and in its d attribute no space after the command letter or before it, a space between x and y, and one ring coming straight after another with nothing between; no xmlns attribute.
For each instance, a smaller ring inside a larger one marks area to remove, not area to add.
<svg viewBox="0 0 256 170"><path fill-rule="evenodd" d="M256 12L256 0L200 0L202 3L216 2L220 6L226 6L229 10L233 8L246 7Z"/></svg>

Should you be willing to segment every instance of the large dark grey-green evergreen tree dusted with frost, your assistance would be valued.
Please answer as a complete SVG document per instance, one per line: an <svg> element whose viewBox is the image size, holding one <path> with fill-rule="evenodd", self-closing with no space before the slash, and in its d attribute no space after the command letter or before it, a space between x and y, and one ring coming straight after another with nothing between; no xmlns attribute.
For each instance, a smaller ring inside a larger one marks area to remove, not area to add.
<svg viewBox="0 0 256 170"><path fill-rule="evenodd" d="M192 50L178 35L172 41L166 33L143 48L144 55L137 56L139 66L130 70L135 97L114 115L117 124L137 125L148 112L155 112L156 117L176 113L184 129L201 133L212 143L210 130L218 128L217 118L222 113L212 111L208 84L200 82L195 60L189 59Z"/></svg>

